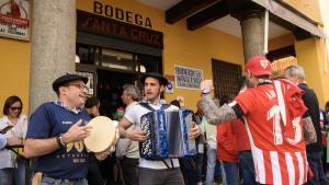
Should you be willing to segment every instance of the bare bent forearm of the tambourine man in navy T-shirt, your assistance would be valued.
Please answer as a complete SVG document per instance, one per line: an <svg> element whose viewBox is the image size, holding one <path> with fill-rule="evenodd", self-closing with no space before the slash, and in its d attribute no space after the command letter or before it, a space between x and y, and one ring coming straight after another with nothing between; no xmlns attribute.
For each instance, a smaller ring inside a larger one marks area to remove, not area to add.
<svg viewBox="0 0 329 185"><path fill-rule="evenodd" d="M52 153L60 146L56 138L48 139L26 139L24 144L24 157L34 158Z"/></svg>

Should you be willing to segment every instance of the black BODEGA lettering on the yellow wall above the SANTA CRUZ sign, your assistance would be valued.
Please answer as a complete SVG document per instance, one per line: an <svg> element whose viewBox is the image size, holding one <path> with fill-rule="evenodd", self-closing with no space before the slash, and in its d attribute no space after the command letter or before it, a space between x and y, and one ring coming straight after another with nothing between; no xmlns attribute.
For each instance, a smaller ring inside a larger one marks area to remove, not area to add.
<svg viewBox="0 0 329 185"><path fill-rule="evenodd" d="M93 13L101 14L114 20L124 21L126 23L152 28L152 24L149 18L110 4L103 4L102 2L99 1L93 2Z"/></svg>

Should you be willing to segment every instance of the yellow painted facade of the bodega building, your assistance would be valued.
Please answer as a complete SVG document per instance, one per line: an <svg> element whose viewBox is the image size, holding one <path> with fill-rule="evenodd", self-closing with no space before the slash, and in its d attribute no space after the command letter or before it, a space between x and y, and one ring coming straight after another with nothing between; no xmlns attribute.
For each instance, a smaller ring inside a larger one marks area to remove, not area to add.
<svg viewBox="0 0 329 185"><path fill-rule="evenodd" d="M125 22L126 24L141 26L163 34L161 60L162 73L167 77L174 77L174 67L183 66L202 70L203 79L213 79L213 59L239 65L241 69L243 69L243 48L240 37L208 26L203 26L196 31L189 31L186 30L184 20L175 24L168 24L166 23L166 16L162 10L134 0L98 0L97 2L103 5L102 13L95 13L94 0L77 0L77 10L98 14L106 19L114 19ZM307 1L285 1L285 3L299 12L305 13L309 19L322 24L318 3L306 2ZM107 5L107 8L111 7L113 11L120 9L125 13L131 12L128 16L132 18L120 20L115 19L114 14L111 18L110 14L105 13L105 5ZM134 19L136 14L138 14L139 21ZM141 15L141 18L139 18L139 15ZM147 18L148 20L146 20ZM0 105L3 105L8 96L15 94L22 99L24 104L23 112L26 114L29 112L31 42L33 41L21 42L11 38L0 38L0 79L2 84ZM316 91L322 107L325 102L329 100L329 89L327 88L329 85L329 73L328 59L325 57L325 39L311 37L297 41L291 33L269 41L269 50L275 50L291 45L295 47L298 65L305 68L307 82ZM196 101L200 99L200 91L173 86L173 93L167 93L164 97L167 102L170 102L178 96L183 97L184 107L195 109Z"/></svg>

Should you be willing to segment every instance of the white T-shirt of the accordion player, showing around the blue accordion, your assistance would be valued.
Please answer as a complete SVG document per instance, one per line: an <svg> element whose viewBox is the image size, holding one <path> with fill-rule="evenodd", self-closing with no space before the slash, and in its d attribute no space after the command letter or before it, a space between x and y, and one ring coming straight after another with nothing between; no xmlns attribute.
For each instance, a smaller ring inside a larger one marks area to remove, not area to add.
<svg viewBox="0 0 329 185"><path fill-rule="evenodd" d="M160 104L158 105L149 104L149 105L155 109L160 109L161 107ZM170 105L166 109L166 112L175 111L175 109L179 108L177 106ZM136 129L140 129L140 117L149 112L150 112L149 109L143 107L141 105L135 104L131 106L128 109L126 109L124 117L128 119L132 124L136 125ZM171 167L170 159L166 159L164 161ZM172 159L172 162L174 167L180 166L178 159ZM139 158L139 166L146 169L157 169L157 170L168 169L162 161L146 160L144 158Z"/></svg>

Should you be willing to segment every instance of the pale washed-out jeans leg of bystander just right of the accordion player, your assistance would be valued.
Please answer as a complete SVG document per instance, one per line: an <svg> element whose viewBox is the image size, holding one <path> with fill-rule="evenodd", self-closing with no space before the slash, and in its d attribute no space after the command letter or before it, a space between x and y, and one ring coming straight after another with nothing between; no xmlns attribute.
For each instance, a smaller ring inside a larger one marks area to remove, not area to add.
<svg viewBox="0 0 329 185"><path fill-rule="evenodd" d="M217 150L212 147L207 147L207 174L205 185L213 185L214 173L216 166Z"/></svg>

